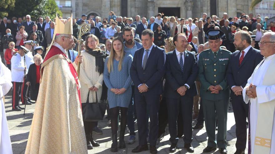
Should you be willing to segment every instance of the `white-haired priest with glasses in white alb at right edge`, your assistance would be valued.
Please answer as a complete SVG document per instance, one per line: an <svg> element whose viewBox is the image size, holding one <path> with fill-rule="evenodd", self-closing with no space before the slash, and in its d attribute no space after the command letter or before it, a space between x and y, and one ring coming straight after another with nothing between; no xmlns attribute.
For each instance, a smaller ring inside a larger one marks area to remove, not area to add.
<svg viewBox="0 0 275 154"><path fill-rule="evenodd" d="M264 59L257 65L243 88L245 103L250 102L250 147L248 153L275 153L275 32L266 32L259 43Z"/></svg>

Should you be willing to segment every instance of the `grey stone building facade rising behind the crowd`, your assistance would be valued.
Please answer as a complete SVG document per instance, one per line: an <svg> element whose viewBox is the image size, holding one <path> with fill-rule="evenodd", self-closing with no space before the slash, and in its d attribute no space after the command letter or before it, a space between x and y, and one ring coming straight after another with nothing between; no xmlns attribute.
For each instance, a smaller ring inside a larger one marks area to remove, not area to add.
<svg viewBox="0 0 275 154"><path fill-rule="evenodd" d="M158 12L164 16L179 18L201 17L202 13L217 15L222 18L223 12L229 17L242 13L254 13L250 10L251 0L71 0L73 16L80 18L82 14L95 14L108 17L109 11L117 16L135 17L136 15L151 17ZM61 10L62 11L62 10ZM67 16L67 12L63 17Z"/></svg>

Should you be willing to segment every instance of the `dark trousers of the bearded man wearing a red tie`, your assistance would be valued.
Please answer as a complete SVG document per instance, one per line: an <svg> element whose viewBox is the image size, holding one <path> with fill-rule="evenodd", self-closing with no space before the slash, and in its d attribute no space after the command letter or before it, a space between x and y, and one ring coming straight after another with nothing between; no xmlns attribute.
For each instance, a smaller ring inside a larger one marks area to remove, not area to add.
<svg viewBox="0 0 275 154"><path fill-rule="evenodd" d="M249 118L249 104L245 104L242 95L232 98L232 107L236 122L236 148L245 150L247 141L246 119Z"/></svg>

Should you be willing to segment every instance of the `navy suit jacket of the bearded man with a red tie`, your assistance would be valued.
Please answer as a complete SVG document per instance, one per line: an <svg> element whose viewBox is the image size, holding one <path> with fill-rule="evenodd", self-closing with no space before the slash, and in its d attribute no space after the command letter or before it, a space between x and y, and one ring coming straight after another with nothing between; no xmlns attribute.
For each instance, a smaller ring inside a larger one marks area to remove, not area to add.
<svg viewBox="0 0 275 154"><path fill-rule="evenodd" d="M235 51L231 54L231 59L228 63L226 79L228 86L231 90L230 97L237 97L232 91L232 86L245 87L247 80L251 77L256 66L262 61L263 56L260 54L260 50L250 48L244 56L241 65L239 66L241 51Z"/></svg>

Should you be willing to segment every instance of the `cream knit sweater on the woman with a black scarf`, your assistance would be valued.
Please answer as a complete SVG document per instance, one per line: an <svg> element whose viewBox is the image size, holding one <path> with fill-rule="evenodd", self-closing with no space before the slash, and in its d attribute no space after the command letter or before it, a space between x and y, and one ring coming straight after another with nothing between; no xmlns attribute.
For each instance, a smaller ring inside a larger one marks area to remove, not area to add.
<svg viewBox="0 0 275 154"><path fill-rule="evenodd" d="M101 98L102 94L102 84L103 84L103 74L96 72L96 58L86 51L82 51L83 62L80 64L80 95L81 102L86 103L89 88L95 86L98 88L97 95L98 100ZM96 92L90 91L89 102L96 102Z"/></svg>

